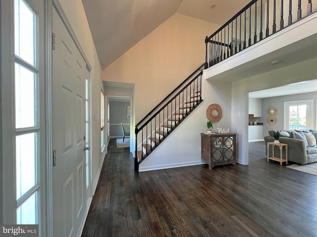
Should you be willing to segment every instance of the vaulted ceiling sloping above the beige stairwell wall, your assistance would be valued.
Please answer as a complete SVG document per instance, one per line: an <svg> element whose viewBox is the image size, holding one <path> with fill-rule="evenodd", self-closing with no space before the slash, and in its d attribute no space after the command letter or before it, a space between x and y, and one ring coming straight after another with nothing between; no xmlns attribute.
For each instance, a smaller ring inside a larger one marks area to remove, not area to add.
<svg viewBox="0 0 317 237"><path fill-rule="evenodd" d="M250 0L82 0L82 2L101 67L105 69L175 13L221 26Z"/></svg>

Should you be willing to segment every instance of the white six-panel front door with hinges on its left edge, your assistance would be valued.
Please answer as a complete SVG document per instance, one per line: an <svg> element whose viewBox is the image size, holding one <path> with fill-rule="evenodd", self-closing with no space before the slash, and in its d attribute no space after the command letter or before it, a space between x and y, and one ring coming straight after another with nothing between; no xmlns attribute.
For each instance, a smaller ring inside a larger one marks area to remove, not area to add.
<svg viewBox="0 0 317 237"><path fill-rule="evenodd" d="M86 209L86 63L53 9L53 236L77 236Z"/></svg>

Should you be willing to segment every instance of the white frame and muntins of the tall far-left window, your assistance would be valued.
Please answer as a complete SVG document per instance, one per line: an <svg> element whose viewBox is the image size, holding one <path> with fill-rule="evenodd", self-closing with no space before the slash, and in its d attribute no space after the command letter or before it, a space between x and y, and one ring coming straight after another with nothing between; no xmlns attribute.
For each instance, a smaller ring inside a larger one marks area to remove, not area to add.
<svg viewBox="0 0 317 237"><path fill-rule="evenodd" d="M14 1L0 1L1 9L1 70L0 76L2 80L1 83L1 99L5 101L5 104L2 104L0 107L1 114L1 156L2 164L0 165L3 179L1 181L0 187L3 188L1 195L3 194L3 199L0 198L0 207L2 207L2 213L0 217L0 222L4 224L15 224L17 222L17 206L30 197L34 191L38 192L38 213L37 221L39 224L39 235L40 236L50 236L48 234L48 224L51 214L51 208L46 205L48 200L48 183L46 176L50 174L50 171L47 170L48 160L48 133L49 127L46 119L47 116L47 105L49 95L45 91L50 91L45 80L50 80L50 56L49 49L51 45L51 30L45 25L49 25L51 4L46 1L33 1L24 0L30 9L36 14L36 46L35 50L36 55L36 64L33 67L31 64L24 62L23 59L15 56L14 48ZM45 24L46 22L46 24ZM50 36L48 37L48 32ZM15 126L15 63L19 64L22 67L27 69L36 69L37 86L37 126L32 128L18 128ZM32 68L33 67L33 68ZM15 142L16 135L31 133L32 131L38 132L38 173L37 173L37 185L35 185L31 190L29 190L25 195L23 195L19 200L16 200L16 180L15 180Z"/></svg>

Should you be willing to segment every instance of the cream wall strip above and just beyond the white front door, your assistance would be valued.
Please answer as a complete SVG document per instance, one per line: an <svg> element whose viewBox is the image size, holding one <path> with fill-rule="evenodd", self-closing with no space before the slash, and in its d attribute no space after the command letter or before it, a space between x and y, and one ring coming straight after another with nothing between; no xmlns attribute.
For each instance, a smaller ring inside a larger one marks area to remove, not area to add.
<svg viewBox="0 0 317 237"><path fill-rule="evenodd" d="M81 0L59 0L67 18L78 38L83 51L88 58L91 71L91 99L92 99L92 175L96 187L102 160L105 152L101 153L100 147L100 91L103 89L102 70L97 56L94 41L91 36L85 10Z"/></svg>

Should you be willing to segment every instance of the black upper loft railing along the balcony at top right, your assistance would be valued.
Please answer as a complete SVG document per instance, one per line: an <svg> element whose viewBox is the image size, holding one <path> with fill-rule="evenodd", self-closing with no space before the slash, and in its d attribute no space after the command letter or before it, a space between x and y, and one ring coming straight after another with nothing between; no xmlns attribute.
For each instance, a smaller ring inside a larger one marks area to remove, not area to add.
<svg viewBox="0 0 317 237"><path fill-rule="evenodd" d="M303 5L307 11L302 11L301 0L252 0L210 37L206 36L205 69L310 15L312 0L306 2Z"/></svg>

